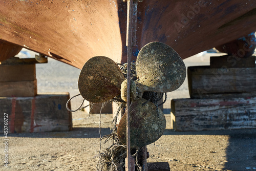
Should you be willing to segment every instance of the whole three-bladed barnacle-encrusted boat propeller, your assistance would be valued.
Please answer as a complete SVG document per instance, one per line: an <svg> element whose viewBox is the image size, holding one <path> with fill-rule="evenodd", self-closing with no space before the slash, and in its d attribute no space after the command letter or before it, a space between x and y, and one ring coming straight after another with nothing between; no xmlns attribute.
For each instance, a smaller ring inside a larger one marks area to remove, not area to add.
<svg viewBox="0 0 256 171"><path fill-rule="evenodd" d="M131 80L130 137L131 147L141 147L158 140L166 120L154 103L142 98L145 91L166 93L178 89L186 77L180 56L162 42L151 42L139 52L136 61L137 80ZM118 65L110 58L95 56L83 66L78 89L93 103L111 100L121 94L126 101L126 82ZM126 144L126 113L117 127L118 139Z"/></svg>

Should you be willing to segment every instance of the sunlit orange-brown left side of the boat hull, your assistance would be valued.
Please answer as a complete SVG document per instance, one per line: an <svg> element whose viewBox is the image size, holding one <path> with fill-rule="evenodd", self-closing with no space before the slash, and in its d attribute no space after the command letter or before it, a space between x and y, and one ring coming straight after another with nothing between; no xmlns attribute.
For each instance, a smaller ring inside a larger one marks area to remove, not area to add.
<svg viewBox="0 0 256 171"><path fill-rule="evenodd" d="M122 53L118 4L109 1L1 1L0 39L77 68Z"/></svg>

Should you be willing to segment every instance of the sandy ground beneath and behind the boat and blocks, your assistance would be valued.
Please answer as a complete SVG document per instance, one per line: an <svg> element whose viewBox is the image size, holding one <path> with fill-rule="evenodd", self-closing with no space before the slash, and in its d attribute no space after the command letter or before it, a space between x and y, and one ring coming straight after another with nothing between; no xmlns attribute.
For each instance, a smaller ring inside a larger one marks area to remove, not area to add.
<svg viewBox="0 0 256 171"><path fill-rule="evenodd" d="M22 56L22 54L20 54ZM34 54L31 53L31 56ZM184 60L185 65L209 65L204 54ZM49 59L36 66L38 93L78 94L79 69ZM256 170L256 129L204 132L175 132L170 129L170 100L188 98L187 80L168 93L164 104L167 121L164 135L147 146L148 162L168 162L170 170ZM72 101L79 106L82 98ZM9 164L0 170L96 170L99 152L99 115L73 113L73 131L9 134ZM110 133L112 114L101 115L101 135ZM1 135L4 139L3 134ZM109 144L103 144L102 148ZM4 161L4 145L0 146Z"/></svg>

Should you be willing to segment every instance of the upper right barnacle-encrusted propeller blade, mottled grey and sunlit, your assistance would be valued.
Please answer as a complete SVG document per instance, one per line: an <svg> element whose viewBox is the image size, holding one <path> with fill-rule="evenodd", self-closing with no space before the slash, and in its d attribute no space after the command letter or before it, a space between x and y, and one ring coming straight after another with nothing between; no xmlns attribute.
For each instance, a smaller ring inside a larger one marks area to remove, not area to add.
<svg viewBox="0 0 256 171"><path fill-rule="evenodd" d="M151 42L140 50L136 70L144 91L171 92L178 89L186 77L181 57L162 42Z"/></svg>

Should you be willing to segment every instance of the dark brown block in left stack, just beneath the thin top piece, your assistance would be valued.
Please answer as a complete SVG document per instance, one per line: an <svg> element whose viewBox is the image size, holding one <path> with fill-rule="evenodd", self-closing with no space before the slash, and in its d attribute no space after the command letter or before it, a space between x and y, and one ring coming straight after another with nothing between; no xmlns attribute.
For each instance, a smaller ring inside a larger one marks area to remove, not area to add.
<svg viewBox="0 0 256 171"><path fill-rule="evenodd" d="M0 65L0 82L35 80L35 64Z"/></svg>

